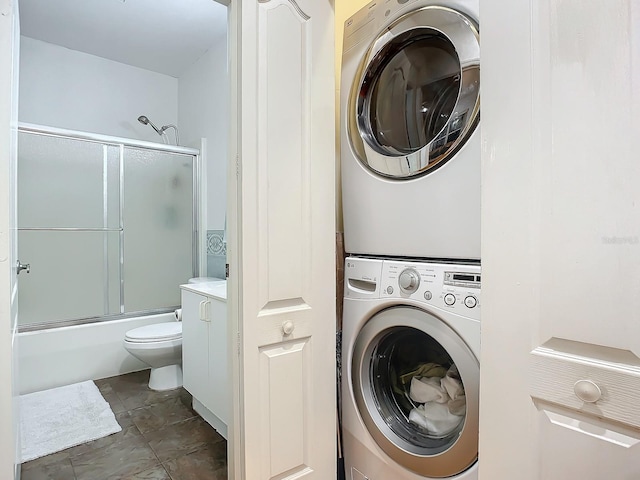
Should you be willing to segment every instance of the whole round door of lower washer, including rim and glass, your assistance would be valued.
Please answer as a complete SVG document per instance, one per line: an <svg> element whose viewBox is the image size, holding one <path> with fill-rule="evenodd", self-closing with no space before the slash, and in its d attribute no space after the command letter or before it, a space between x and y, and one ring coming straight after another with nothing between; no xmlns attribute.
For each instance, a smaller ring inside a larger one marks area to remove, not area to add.
<svg viewBox="0 0 640 480"><path fill-rule="evenodd" d="M477 461L479 378L464 340L424 310L383 310L355 342L358 411L380 448L418 475L451 477Z"/></svg>

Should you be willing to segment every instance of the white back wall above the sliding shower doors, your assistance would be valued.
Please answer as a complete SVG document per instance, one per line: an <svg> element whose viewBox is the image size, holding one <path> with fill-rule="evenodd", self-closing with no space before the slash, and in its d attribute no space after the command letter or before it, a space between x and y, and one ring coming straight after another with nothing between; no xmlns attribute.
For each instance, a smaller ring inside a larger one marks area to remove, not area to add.
<svg viewBox="0 0 640 480"><path fill-rule="evenodd" d="M19 105L21 122L162 143L137 119L177 124L178 80L23 36Z"/></svg>

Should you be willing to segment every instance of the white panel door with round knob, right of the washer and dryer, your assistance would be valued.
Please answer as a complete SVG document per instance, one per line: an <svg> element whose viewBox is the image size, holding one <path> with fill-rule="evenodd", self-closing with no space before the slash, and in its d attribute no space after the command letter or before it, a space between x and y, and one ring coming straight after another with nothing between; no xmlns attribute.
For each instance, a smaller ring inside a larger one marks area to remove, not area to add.
<svg viewBox="0 0 640 480"><path fill-rule="evenodd" d="M640 478L640 3L482 5L480 480Z"/></svg>

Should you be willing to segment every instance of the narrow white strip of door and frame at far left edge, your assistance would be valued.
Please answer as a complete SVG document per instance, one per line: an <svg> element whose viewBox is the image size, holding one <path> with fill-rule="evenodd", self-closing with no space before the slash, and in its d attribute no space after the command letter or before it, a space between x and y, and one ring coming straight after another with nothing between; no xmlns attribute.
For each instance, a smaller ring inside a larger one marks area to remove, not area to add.
<svg viewBox="0 0 640 480"><path fill-rule="evenodd" d="M0 478L19 476L16 279L16 166L18 145L17 3L0 0Z"/></svg>

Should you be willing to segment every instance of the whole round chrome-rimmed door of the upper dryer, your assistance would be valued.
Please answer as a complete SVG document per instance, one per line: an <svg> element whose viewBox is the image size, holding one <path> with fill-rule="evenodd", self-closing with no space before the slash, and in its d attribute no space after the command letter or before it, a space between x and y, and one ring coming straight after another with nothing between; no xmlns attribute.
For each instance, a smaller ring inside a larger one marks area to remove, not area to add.
<svg viewBox="0 0 640 480"><path fill-rule="evenodd" d="M364 56L351 89L347 129L360 162L398 180L444 165L480 116L480 37L446 7L412 11Z"/></svg>

